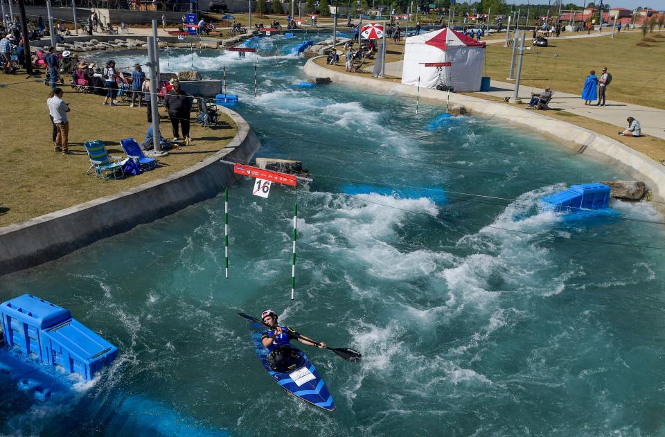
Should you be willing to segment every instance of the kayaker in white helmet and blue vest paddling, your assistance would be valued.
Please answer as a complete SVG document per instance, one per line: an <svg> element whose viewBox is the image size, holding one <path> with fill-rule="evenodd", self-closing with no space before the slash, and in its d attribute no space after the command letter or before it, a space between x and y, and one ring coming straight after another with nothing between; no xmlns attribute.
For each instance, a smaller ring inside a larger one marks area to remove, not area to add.
<svg viewBox="0 0 665 437"><path fill-rule="evenodd" d="M293 339L298 339L302 344L308 346L318 346L322 349L326 348L326 343L324 341L320 341L317 344L316 341L299 334L290 326L278 325L277 317L277 313L273 310L265 310L263 314L261 314L263 322L272 328L269 331L263 332L263 335L261 335L261 343L270 352L268 361L273 370L291 370L290 364L294 359L298 358L297 354L295 357L292 354L291 340Z"/></svg>

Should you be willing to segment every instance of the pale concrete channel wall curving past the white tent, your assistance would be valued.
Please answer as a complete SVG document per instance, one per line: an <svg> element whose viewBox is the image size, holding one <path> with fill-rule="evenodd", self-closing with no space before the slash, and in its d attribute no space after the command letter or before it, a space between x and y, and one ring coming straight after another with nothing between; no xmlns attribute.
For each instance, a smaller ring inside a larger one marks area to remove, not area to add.
<svg viewBox="0 0 665 437"><path fill-rule="evenodd" d="M317 58L307 61L304 68L305 74L313 77L330 78L333 83L362 87L365 90L372 89L384 94L416 98L418 92L416 87L401 82L375 80L367 78L365 75L341 73L315 64L315 59ZM444 104L447 93L436 89L421 88L420 98L438 100L441 104ZM450 107L454 105L463 106L471 114L491 116L553 136L562 141L566 147L573 148L580 154L587 154L611 166L621 168L636 179L643 179L655 199L660 201L665 199L664 166L608 136L551 118L544 115L543 112L527 111L526 109L490 102L482 98L451 93Z"/></svg>

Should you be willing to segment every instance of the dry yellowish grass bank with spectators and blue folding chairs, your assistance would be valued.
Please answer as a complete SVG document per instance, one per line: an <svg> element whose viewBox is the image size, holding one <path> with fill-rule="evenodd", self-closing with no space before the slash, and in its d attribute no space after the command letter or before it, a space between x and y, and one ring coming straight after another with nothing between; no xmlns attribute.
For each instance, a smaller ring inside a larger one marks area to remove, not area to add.
<svg viewBox="0 0 665 437"><path fill-rule="evenodd" d="M25 75L1 75L0 82L25 82ZM228 127L204 129L191 124L192 145L174 149L159 158L159 166L139 176L100 180L84 175L90 163L83 147L85 141L100 139L109 154L123 156L120 140L134 137L143 142L148 129L145 107L103 106L103 97L76 93L64 87L69 102L69 150L71 155L53 151L51 120L46 98L50 89L42 83L20 83L0 88L3 102L3 159L0 160L0 226L118 193L183 170L218 152L238 132L231 118L222 115ZM161 114L166 114L163 108ZM192 114L195 116L195 112ZM161 119L161 132L172 135L168 118Z"/></svg>

